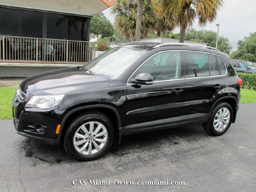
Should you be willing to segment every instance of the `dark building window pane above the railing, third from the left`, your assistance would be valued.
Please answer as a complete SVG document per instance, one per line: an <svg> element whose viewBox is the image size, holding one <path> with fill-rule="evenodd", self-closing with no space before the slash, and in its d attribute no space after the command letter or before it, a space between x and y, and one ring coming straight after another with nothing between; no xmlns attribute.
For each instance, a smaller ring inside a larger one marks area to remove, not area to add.
<svg viewBox="0 0 256 192"><path fill-rule="evenodd" d="M66 39L68 16L60 14L47 14L47 38Z"/></svg>

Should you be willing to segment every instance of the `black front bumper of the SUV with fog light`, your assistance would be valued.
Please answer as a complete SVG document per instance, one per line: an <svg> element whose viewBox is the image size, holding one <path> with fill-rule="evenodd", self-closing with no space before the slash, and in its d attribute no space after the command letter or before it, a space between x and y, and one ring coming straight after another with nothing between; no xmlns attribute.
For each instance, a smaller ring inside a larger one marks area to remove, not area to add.
<svg viewBox="0 0 256 192"><path fill-rule="evenodd" d="M22 136L51 145L60 143L56 128L62 122L66 110L56 106L51 110L25 108L26 99L19 104L12 100L14 128Z"/></svg>

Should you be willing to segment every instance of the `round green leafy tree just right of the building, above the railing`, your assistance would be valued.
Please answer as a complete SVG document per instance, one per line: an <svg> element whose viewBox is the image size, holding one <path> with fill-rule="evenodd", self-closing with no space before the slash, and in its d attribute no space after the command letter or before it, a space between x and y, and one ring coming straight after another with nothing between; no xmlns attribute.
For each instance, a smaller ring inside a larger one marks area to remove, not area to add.
<svg viewBox="0 0 256 192"><path fill-rule="evenodd" d="M94 15L90 22L90 38L107 38L114 34L114 26L102 12Z"/></svg>

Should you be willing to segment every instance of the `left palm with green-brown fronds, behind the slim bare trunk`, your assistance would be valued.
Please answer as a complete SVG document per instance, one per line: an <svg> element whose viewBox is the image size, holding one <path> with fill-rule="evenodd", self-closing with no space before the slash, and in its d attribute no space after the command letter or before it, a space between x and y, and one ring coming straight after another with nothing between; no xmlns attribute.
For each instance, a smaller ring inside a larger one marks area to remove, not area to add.
<svg viewBox="0 0 256 192"><path fill-rule="evenodd" d="M140 40L141 37L148 36L150 32L154 31L157 22L154 15L155 8L150 0L143 1L141 19L137 19L137 10L138 5L136 0L117 0L116 5L112 8L112 13L115 14L114 22L118 32L125 38L135 38L136 41ZM136 32L139 35L136 35Z"/></svg>

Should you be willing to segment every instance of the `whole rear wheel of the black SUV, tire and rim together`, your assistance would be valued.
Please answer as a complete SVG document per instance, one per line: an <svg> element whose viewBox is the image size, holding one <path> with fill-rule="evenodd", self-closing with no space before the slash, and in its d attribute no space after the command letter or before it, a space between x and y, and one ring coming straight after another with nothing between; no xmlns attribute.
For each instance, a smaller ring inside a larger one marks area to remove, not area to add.
<svg viewBox="0 0 256 192"><path fill-rule="evenodd" d="M219 102L214 106L212 114L203 128L211 136L220 136L224 134L232 123L233 110L227 102Z"/></svg>

